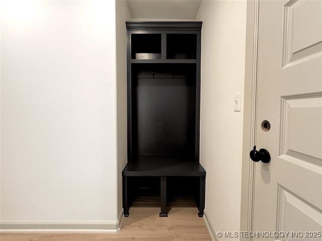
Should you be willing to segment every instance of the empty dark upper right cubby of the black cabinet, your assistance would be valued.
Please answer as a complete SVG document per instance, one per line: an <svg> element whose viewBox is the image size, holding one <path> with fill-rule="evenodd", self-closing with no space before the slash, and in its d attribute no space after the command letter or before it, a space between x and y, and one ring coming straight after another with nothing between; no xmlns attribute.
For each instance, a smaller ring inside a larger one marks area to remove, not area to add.
<svg viewBox="0 0 322 241"><path fill-rule="evenodd" d="M167 34L167 59L196 59L197 34Z"/></svg>

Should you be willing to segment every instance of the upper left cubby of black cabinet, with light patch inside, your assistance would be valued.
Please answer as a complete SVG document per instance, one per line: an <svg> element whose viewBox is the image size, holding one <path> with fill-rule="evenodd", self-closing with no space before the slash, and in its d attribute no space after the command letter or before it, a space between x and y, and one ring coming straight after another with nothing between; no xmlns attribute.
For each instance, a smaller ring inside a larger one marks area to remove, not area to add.
<svg viewBox="0 0 322 241"><path fill-rule="evenodd" d="M161 34L131 34L132 59L161 59Z"/></svg>

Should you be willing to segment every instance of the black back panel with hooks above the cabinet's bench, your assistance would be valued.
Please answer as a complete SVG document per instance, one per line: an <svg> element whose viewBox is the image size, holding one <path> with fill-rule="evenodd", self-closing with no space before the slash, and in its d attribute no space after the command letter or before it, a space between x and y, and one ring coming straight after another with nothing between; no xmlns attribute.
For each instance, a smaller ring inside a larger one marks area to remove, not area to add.
<svg viewBox="0 0 322 241"><path fill-rule="evenodd" d="M134 69L137 154L193 155L195 65L143 64Z"/></svg>

